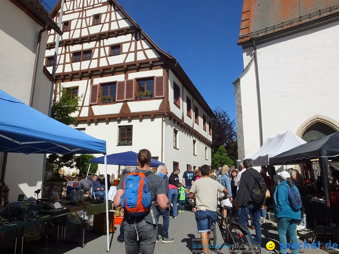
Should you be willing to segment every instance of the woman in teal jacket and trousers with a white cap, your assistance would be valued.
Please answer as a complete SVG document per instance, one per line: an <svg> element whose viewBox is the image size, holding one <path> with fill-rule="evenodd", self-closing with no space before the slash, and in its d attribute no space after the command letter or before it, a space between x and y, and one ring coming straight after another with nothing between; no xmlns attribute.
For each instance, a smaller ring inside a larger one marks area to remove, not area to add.
<svg viewBox="0 0 339 254"><path fill-rule="evenodd" d="M290 188L295 188L299 193L297 187L295 187L291 180L290 174L286 171L278 173L279 182L275 192L274 192L274 203L276 205L275 215L278 219L278 235L280 242L280 253L286 254L286 232L291 239L292 253L298 253L298 238L297 238L297 223L300 221L300 210L294 211L290 206L288 201L288 190Z"/></svg>

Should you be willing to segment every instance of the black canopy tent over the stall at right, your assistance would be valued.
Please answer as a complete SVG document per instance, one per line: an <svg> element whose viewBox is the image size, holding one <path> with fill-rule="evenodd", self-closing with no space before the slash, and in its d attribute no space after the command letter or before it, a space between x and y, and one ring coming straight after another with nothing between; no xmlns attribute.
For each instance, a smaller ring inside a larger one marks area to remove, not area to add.
<svg viewBox="0 0 339 254"><path fill-rule="evenodd" d="M270 158L270 164L292 165L319 159L319 165L323 178L327 224L329 225L331 223L330 199L328 181L325 181L328 178L328 158L333 161L339 159L339 132L278 154Z"/></svg>

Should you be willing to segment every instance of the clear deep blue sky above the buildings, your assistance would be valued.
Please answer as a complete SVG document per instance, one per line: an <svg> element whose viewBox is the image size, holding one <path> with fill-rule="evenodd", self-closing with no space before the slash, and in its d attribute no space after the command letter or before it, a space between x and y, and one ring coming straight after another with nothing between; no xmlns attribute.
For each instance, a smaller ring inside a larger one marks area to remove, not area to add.
<svg viewBox="0 0 339 254"><path fill-rule="evenodd" d="M44 0L52 8L57 0ZM67 1L67 0L66 0ZM242 1L117 0L146 34L174 56L208 105L236 119L234 86L243 70L237 45Z"/></svg>

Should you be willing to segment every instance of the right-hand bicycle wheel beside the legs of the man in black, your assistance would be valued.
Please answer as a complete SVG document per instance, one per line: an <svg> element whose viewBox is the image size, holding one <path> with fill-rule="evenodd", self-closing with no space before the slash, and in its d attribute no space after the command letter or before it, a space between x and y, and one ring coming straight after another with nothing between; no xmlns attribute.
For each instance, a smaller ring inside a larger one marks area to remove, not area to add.
<svg viewBox="0 0 339 254"><path fill-rule="evenodd" d="M246 231L237 225L228 228L227 242L230 245L231 254L253 253L253 246Z"/></svg>

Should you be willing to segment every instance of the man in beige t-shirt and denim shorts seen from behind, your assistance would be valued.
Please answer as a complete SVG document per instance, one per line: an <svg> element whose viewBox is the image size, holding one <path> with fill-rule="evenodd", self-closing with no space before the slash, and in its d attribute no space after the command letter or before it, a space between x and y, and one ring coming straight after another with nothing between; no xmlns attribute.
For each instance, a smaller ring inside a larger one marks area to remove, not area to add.
<svg viewBox="0 0 339 254"><path fill-rule="evenodd" d="M210 169L210 166L202 165L200 168L202 177L199 181L195 181L190 189L190 198L195 199L196 202L195 219L203 253L208 253L208 240L212 224L217 219L217 193L222 191L224 198L228 196L226 188L218 181L208 177Z"/></svg>

